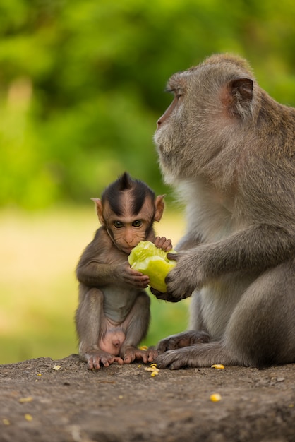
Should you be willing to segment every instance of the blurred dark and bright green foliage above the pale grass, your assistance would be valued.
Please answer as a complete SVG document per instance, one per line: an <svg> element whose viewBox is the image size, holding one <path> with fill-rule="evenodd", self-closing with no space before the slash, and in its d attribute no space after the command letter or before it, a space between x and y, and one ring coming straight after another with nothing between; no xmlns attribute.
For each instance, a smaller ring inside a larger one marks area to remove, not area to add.
<svg viewBox="0 0 295 442"><path fill-rule="evenodd" d="M294 23L293 0L1 0L0 205L88 202L125 169L163 191L171 73L234 52L294 105Z"/></svg>

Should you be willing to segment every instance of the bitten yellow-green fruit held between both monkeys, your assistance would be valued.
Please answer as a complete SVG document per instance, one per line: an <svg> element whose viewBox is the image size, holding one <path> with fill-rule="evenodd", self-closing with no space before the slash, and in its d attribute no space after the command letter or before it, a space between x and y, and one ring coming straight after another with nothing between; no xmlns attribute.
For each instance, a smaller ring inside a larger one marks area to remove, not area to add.
<svg viewBox="0 0 295 442"><path fill-rule="evenodd" d="M143 275L148 275L150 286L162 293L167 292L165 277L176 265L176 261L167 258L167 253L176 252L173 250L166 252L158 249L150 241L140 241L128 256L131 268Z"/></svg>

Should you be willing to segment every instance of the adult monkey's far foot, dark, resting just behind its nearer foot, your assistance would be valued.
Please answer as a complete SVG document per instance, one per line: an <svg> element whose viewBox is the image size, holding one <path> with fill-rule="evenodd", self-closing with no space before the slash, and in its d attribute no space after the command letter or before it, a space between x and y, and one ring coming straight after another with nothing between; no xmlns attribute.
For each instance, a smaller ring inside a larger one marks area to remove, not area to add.
<svg viewBox="0 0 295 442"><path fill-rule="evenodd" d="M159 353L167 352L167 350L175 350L176 348L188 347L189 345L200 344L210 341L210 335L203 331L188 330L177 335L170 335L160 340L156 349Z"/></svg>

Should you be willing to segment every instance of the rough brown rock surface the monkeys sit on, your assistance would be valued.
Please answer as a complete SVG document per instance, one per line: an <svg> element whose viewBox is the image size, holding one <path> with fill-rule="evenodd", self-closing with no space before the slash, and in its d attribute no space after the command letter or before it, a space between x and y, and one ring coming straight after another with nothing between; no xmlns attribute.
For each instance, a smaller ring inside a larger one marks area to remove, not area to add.
<svg viewBox="0 0 295 442"><path fill-rule="evenodd" d="M89 371L75 354L0 366L0 441L295 441L295 364L147 366Z"/></svg>

